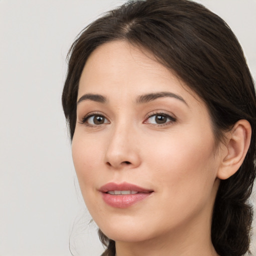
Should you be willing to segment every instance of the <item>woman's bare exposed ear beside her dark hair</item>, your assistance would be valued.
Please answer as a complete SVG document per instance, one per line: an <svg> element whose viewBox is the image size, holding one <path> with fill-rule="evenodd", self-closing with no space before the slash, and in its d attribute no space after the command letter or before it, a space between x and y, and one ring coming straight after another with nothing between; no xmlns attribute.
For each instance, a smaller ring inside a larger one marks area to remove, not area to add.
<svg viewBox="0 0 256 256"><path fill-rule="evenodd" d="M247 120L237 121L227 134L221 149L221 162L217 177L227 179L241 166L250 144L251 127Z"/></svg>

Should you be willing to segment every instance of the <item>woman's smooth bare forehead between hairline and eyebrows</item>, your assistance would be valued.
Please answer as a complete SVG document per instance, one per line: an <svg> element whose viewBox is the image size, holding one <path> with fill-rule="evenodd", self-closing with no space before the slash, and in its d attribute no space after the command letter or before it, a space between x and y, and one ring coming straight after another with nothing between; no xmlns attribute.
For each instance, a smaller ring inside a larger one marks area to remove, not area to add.
<svg viewBox="0 0 256 256"><path fill-rule="evenodd" d="M78 97L84 93L116 93L136 96L171 91L197 103L202 100L173 71L160 64L148 51L125 41L107 42L88 57L80 80Z"/></svg>

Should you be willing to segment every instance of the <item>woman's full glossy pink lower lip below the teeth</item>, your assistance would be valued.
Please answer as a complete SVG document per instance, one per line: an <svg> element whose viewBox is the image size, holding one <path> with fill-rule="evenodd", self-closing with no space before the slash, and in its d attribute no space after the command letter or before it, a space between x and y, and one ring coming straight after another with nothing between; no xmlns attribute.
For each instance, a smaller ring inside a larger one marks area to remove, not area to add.
<svg viewBox="0 0 256 256"><path fill-rule="evenodd" d="M102 193L103 200L106 204L116 207L116 208L127 208L134 203L145 199L149 196L151 192L148 193L137 193L137 194L108 194Z"/></svg>

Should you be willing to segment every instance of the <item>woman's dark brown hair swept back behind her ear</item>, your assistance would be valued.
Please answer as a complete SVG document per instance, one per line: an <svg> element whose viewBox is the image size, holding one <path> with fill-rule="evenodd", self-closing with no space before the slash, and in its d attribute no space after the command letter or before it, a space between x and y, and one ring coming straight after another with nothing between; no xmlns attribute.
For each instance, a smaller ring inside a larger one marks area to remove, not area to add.
<svg viewBox="0 0 256 256"><path fill-rule="evenodd" d="M239 42L229 26L203 5L190 0L136 0L106 12L85 27L68 52L62 106L72 140L76 123L79 78L91 52L105 42L127 41L150 52L205 102L217 144L240 119L252 129L250 146L235 174L220 180L212 219L211 240L221 256L249 250L255 178L256 99L252 77ZM100 230L115 254L115 242Z"/></svg>

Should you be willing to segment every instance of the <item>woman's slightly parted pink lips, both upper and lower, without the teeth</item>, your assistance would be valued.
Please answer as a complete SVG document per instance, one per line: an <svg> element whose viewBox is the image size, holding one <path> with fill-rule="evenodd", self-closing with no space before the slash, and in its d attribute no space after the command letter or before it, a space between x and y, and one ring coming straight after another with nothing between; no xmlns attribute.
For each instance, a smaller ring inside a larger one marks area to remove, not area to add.
<svg viewBox="0 0 256 256"><path fill-rule="evenodd" d="M107 191L113 190L133 190L137 191L135 194L109 194ZM143 188L131 183L122 182L120 184L109 182L99 188L103 200L106 204L116 208L127 208L134 203L137 203L153 192L151 189Z"/></svg>

